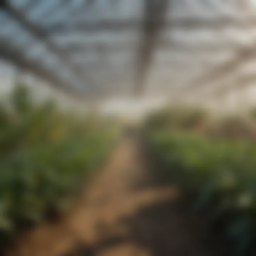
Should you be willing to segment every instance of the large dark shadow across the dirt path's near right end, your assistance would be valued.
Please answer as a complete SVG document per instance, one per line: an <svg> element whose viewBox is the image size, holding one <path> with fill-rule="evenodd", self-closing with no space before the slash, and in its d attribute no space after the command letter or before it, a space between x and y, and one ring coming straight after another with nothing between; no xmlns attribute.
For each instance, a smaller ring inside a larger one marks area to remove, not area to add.
<svg viewBox="0 0 256 256"><path fill-rule="evenodd" d="M113 233L111 228L99 226L102 239L93 245L79 243L64 256L96 256L102 253L120 256L228 255L217 234L209 232L211 229L202 219L191 213L186 215L184 206L179 202L166 200L145 206L131 217L118 219L118 226L124 231ZM115 253L116 248L118 254Z"/></svg>

